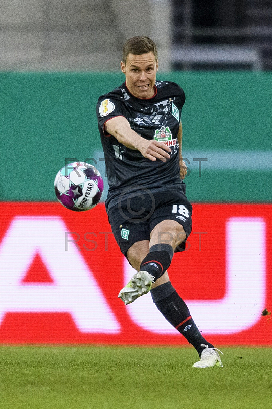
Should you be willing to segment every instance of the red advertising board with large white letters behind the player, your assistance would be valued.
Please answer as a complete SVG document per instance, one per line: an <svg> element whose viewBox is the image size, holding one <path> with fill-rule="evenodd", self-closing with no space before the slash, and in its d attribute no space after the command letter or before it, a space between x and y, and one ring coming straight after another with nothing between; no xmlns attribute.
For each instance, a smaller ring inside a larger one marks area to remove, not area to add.
<svg viewBox="0 0 272 409"><path fill-rule="evenodd" d="M103 204L0 203L0 342L186 345L150 294L117 298L133 270ZM195 204L172 284L216 345L272 345L272 205Z"/></svg>

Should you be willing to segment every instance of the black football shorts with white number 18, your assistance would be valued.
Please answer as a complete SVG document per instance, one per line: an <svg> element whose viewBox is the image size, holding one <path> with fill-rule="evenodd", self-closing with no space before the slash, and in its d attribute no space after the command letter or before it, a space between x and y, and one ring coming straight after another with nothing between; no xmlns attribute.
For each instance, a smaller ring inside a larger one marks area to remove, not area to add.
<svg viewBox="0 0 272 409"><path fill-rule="evenodd" d="M125 256L134 243L150 240L151 231L163 220L175 220L181 224L187 239L192 231L191 216L192 205L181 190L139 191L108 210L112 233ZM175 252L185 249L186 239Z"/></svg>

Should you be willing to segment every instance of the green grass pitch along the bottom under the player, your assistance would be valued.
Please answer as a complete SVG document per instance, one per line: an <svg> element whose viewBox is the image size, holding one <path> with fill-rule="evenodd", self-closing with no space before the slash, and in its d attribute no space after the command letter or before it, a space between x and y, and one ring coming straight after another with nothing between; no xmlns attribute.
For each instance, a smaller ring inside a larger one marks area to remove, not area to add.
<svg viewBox="0 0 272 409"><path fill-rule="evenodd" d="M222 347L196 369L193 348L0 347L1 409L271 409L272 349Z"/></svg>

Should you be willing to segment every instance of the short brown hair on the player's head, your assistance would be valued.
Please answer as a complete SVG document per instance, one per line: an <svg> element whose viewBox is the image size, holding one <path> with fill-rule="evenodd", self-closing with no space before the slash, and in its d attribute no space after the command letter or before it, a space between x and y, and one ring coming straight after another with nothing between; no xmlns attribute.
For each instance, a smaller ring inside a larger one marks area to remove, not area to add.
<svg viewBox="0 0 272 409"><path fill-rule="evenodd" d="M128 54L141 55L152 52L157 62L157 46L150 38L145 36L129 38L123 47L123 63L126 65Z"/></svg>

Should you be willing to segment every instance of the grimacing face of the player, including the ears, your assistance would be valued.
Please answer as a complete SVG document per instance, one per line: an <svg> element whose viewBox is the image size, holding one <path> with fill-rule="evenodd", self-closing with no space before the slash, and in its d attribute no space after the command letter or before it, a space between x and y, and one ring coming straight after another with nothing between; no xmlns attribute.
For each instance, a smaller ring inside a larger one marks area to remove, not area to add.
<svg viewBox="0 0 272 409"><path fill-rule="evenodd" d="M121 62L121 71L126 76L126 86L134 97L147 99L154 95L158 63L152 51L128 54L126 64Z"/></svg>

